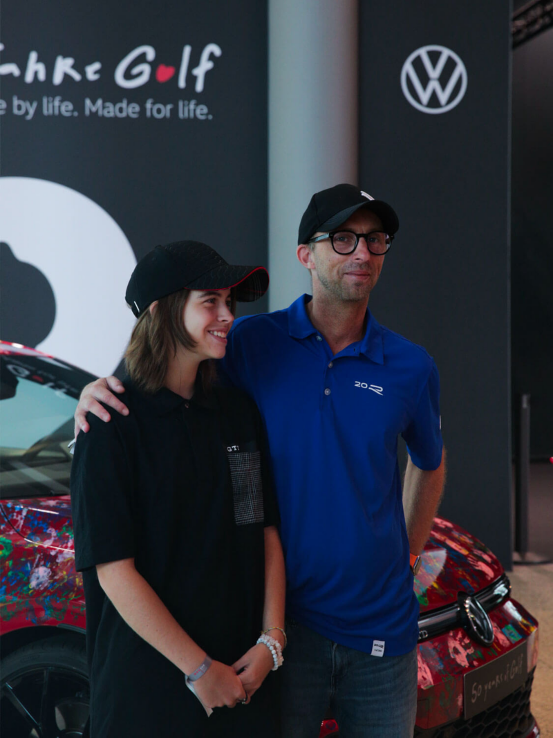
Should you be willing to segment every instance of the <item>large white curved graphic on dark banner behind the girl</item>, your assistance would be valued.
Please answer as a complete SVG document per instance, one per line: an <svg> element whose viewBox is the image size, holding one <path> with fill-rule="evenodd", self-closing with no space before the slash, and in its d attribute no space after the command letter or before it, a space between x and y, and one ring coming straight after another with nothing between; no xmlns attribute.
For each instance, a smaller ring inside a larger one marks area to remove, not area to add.
<svg viewBox="0 0 553 738"><path fill-rule="evenodd" d="M135 320L125 289L136 258L111 215L62 184L0 177L0 241L54 291L55 322L36 348L100 376L113 372ZM32 309L26 297L4 311Z"/></svg>

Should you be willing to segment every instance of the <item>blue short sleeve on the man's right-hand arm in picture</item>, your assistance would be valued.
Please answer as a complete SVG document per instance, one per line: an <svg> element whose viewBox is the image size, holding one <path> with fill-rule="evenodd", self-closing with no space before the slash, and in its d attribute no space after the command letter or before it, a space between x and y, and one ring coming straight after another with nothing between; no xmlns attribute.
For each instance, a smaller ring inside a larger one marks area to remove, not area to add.
<svg viewBox="0 0 553 738"><path fill-rule="evenodd" d="M439 415L439 375L432 361L430 374L422 388L414 415L401 434L411 461L419 469L433 471L442 461L442 431Z"/></svg>

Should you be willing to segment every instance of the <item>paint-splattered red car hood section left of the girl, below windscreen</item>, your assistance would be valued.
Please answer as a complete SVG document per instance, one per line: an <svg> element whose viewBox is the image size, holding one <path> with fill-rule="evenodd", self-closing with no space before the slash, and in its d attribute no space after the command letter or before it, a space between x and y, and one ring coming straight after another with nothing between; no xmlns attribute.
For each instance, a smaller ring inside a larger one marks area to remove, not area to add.
<svg viewBox="0 0 553 738"><path fill-rule="evenodd" d="M27 541L46 548L74 550L69 495L2 500L0 509L15 531Z"/></svg>

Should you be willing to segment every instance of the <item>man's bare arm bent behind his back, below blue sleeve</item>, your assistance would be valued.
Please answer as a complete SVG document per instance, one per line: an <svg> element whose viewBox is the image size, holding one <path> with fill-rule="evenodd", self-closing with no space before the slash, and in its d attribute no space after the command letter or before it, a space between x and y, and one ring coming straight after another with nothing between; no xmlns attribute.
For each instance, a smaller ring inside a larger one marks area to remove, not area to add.
<svg viewBox="0 0 553 738"><path fill-rule="evenodd" d="M408 458L403 481L403 511L407 524L409 551L420 554L437 513L445 483L445 449L437 469L425 472Z"/></svg>

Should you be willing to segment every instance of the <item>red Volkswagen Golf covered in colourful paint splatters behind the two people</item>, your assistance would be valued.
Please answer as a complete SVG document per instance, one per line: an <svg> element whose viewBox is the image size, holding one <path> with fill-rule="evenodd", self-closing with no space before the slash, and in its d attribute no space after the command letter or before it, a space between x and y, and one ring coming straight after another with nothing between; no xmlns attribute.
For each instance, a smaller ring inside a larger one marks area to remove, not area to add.
<svg viewBox="0 0 553 738"><path fill-rule="evenodd" d="M77 737L89 688L68 443L80 390L94 377L15 344L0 342L0 362L0 733ZM437 518L414 586L415 735L537 738L530 692L538 623L510 596L495 556ZM338 729L328 716L321 737L338 736Z"/></svg>

